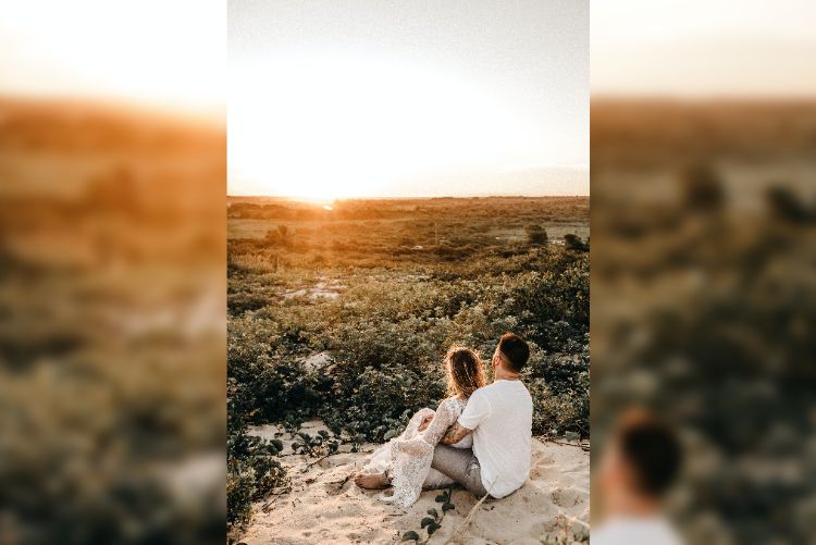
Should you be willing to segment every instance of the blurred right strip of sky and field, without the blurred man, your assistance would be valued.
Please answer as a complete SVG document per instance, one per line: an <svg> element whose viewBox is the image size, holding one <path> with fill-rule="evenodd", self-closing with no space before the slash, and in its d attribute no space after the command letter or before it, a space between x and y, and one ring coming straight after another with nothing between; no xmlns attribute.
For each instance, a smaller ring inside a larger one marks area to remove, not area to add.
<svg viewBox="0 0 816 545"><path fill-rule="evenodd" d="M593 471L627 410L670 422L689 543L816 535L815 24L592 4Z"/></svg>

